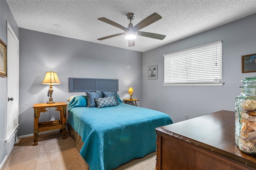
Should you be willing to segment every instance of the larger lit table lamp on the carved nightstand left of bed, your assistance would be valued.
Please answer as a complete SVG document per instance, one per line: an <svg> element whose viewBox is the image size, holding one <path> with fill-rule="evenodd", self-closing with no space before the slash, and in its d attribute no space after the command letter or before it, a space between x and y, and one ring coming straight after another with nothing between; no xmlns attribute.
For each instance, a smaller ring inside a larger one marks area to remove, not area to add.
<svg viewBox="0 0 256 170"><path fill-rule="evenodd" d="M50 89L48 91L48 96L50 94L50 98L49 98L49 101L47 102L47 104L55 103L54 101L52 101L52 92L53 92L52 85L60 84L60 80L58 79L57 73L53 72L53 71L46 72L44 81L42 84L49 85L49 87L50 87Z"/></svg>

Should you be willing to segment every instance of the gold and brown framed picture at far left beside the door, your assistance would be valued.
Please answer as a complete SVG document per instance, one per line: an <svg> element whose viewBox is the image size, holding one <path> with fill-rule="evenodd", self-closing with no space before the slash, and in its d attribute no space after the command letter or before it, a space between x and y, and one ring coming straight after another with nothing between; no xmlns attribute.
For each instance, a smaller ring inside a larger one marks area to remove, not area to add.
<svg viewBox="0 0 256 170"><path fill-rule="evenodd" d="M6 44L0 39L0 76L7 77Z"/></svg>

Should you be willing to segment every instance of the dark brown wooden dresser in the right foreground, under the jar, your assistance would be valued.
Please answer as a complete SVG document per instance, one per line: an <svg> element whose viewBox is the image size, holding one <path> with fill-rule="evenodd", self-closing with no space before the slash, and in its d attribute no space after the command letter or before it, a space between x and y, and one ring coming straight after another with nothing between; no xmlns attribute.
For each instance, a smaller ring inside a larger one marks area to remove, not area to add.
<svg viewBox="0 0 256 170"><path fill-rule="evenodd" d="M236 146L232 111L159 127L156 134L156 170L256 169L256 156Z"/></svg>

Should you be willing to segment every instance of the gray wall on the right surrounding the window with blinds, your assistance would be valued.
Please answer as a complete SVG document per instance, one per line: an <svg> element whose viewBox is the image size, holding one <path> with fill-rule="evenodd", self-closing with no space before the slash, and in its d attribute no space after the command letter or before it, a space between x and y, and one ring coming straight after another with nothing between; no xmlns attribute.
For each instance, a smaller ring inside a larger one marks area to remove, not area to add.
<svg viewBox="0 0 256 170"><path fill-rule="evenodd" d="M214 111L234 111L235 97L240 95L240 80L256 73L242 73L241 56L256 53L256 14L195 36L143 53L142 107L170 115L174 123ZM222 40L221 87L163 86L164 54ZM148 66L158 65L158 79L148 80Z"/></svg>

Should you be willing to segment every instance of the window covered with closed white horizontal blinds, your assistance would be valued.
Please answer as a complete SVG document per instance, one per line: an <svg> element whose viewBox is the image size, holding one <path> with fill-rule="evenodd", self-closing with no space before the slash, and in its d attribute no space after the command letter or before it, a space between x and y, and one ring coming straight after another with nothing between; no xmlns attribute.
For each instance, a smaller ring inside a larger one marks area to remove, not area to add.
<svg viewBox="0 0 256 170"><path fill-rule="evenodd" d="M223 85L222 42L164 55L164 85Z"/></svg>

